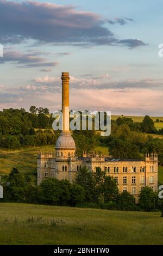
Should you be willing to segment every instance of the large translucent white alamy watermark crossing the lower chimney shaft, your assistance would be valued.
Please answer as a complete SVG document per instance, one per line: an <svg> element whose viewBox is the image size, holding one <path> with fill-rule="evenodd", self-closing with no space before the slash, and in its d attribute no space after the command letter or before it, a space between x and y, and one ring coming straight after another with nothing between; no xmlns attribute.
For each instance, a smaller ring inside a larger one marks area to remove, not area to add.
<svg viewBox="0 0 163 256"><path fill-rule="evenodd" d="M110 111L71 111L69 120L69 107L64 108L64 113L53 113L53 130L71 131L101 131L101 136L109 136L111 133Z"/></svg>

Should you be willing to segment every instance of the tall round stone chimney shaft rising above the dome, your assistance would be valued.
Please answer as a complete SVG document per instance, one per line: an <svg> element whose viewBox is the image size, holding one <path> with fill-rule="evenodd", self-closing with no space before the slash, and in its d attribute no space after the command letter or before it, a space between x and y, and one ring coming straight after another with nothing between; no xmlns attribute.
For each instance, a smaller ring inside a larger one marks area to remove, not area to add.
<svg viewBox="0 0 163 256"><path fill-rule="evenodd" d="M63 115L63 130L62 132L70 132L69 123L69 80L68 72L62 72L62 115Z"/></svg>

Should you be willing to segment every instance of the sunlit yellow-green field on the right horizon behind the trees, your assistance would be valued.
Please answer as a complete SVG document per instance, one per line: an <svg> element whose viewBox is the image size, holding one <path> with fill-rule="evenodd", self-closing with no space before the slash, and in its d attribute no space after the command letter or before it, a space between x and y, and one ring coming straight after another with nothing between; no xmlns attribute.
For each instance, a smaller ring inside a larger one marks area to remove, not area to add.
<svg viewBox="0 0 163 256"><path fill-rule="evenodd" d="M133 119L133 121L135 122L142 122L143 118L144 117L135 117L135 116L132 116L132 115L111 115L111 119L112 120L116 120L118 117L127 117L127 118L131 118ZM155 122L156 119L159 119L159 120L162 120L163 121L163 117L151 117L153 119L153 121ZM160 129L163 129L163 122L162 123L154 123L155 127L157 130L160 130Z"/></svg>

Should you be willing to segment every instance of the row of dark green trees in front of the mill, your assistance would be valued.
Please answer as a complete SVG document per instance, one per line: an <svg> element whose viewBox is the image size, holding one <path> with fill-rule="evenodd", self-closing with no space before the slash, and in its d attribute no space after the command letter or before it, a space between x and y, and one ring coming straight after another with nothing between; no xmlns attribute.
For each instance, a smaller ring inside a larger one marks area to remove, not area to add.
<svg viewBox="0 0 163 256"><path fill-rule="evenodd" d="M5 176L1 185L4 188L4 202L26 202L48 205L65 205L125 211L154 211L162 209L163 200L150 187L143 187L139 203L127 191L120 193L112 176L101 168L90 172L86 167L79 170L76 180L47 178L39 186L34 185L28 176L13 168Z"/></svg>

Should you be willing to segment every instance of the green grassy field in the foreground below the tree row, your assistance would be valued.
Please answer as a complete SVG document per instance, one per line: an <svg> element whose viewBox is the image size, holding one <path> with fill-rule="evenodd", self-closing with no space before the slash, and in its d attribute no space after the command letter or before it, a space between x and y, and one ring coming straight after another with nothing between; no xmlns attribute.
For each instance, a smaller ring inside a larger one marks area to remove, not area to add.
<svg viewBox="0 0 163 256"><path fill-rule="evenodd" d="M0 245L162 245L160 212L0 203Z"/></svg>

